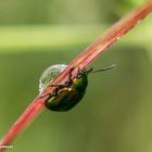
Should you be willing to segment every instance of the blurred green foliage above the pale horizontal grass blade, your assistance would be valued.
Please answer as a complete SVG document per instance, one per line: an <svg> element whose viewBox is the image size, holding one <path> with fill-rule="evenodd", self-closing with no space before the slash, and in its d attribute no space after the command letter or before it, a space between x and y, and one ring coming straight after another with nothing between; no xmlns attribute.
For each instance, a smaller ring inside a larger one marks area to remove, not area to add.
<svg viewBox="0 0 152 152"><path fill-rule="evenodd" d="M7 0L0 4L0 24L77 24L111 22L117 11L141 0ZM125 12L126 13L126 12Z"/></svg>

